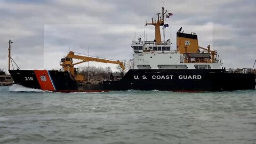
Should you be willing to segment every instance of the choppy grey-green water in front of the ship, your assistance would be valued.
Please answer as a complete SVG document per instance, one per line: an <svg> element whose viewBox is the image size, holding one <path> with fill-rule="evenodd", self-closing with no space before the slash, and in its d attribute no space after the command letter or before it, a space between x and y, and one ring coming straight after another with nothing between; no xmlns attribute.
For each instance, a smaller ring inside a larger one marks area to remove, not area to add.
<svg viewBox="0 0 256 144"><path fill-rule="evenodd" d="M256 90L54 93L0 86L0 143L256 143Z"/></svg>

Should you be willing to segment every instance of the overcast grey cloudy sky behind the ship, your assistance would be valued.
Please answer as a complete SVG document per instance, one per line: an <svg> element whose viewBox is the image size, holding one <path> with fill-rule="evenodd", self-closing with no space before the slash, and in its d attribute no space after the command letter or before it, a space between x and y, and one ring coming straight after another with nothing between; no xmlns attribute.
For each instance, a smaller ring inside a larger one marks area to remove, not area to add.
<svg viewBox="0 0 256 144"><path fill-rule="evenodd" d="M12 58L21 69L59 69L69 49L78 53L131 59L131 42L154 39L154 27L145 21L161 12L173 13L166 23L166 39L175 47L175 31L195 32L199 45L218 50L226 68L249 68L256 59L256 1L173 0L0 0L0 68L8 68L8 41ZM145 37L143 31L145 30ZM116 65L91 62L115 68ZM79 66L87 66L83 63Z"/></svg>

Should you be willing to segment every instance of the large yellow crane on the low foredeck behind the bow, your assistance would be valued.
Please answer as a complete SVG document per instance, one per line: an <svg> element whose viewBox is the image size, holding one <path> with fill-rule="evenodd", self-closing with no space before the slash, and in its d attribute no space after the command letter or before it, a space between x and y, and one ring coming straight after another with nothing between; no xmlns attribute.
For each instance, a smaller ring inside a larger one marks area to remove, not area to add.
<svg viewBox="0 0 256 144"><path fill-rule="evenodd" d="M76 63L73 63L73 59L78 59L78 60L82 60ZM83 63L83 62L87 62L87 61L96 61L96 62L103 62L103 63L114 63L117 65L120 65L120 67L124 70L124 64L123 62L117 60L106 60L106 59L100 59L100 58L93 58L93 57L85 57L85 56L81 56L81 55L75 55L73 51L70 51L67 55L67 57L61 59L61 63L60 66L63 67L64 71L70 71L71 75L75 76L76 81L84 81L84 77L82 75L77 75L75 73L76 68L74 68L75 65L79 64L79 63Z"/></svg>

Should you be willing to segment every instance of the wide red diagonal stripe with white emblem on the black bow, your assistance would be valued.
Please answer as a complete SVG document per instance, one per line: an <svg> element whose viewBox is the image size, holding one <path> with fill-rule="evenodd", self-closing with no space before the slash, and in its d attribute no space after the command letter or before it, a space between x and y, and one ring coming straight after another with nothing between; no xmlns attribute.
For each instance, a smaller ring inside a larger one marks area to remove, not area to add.
<svg viewBox="0 0 256 144"><path fill-rule="evenodd" d="M55 91L51 76L47 70L34 70L37 81L44 91Z"/></svg>

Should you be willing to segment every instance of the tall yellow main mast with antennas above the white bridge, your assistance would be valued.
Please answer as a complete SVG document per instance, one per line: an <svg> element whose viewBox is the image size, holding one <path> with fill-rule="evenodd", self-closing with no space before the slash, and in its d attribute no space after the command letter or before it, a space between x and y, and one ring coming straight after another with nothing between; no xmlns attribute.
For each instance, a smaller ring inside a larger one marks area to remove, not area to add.
<svg viewBox="0 0 256 144"><path fill-rule="evenodd" d="M164 11L164 7L162 7L162 17L159 17L159 14L161 14L161 13L156 13L157 14L157 20L154 20L154 18L152 18L151 23L146 22L146 26L147 25L155 26L155 40L156 40L156 43L161 43L162 42L161 33L160 33L160 26L164 25L164 12L166 13L167 11Z"/></svg>

